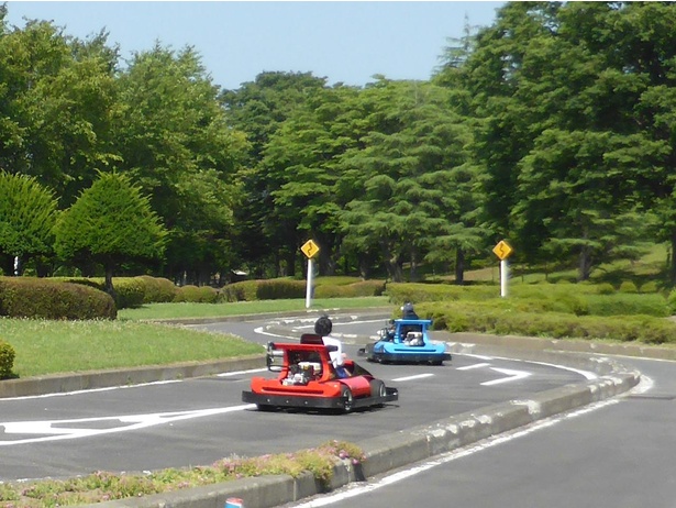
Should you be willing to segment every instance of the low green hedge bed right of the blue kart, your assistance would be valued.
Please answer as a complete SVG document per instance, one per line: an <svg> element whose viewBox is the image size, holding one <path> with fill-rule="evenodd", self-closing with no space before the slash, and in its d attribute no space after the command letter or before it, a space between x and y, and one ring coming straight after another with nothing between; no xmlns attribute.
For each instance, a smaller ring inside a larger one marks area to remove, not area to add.
<svg viewBox="0 0 676 508"><path fill-rule="evenodd" d="M612 288L612 287L611 287ZM434 328L452 332L676 343L676 296L641 294L607 285L514 285L499 288L389 284L394 302L410 300Z"/></svg>

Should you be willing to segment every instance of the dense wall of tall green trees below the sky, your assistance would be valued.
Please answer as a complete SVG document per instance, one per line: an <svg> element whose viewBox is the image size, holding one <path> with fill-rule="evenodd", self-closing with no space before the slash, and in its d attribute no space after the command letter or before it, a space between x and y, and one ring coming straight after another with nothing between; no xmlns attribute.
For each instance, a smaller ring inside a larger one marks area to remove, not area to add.
<svg viewBox="0 0 676 508"><path fill-rule="evenodd" d="M5 16L4 273L19 256L41 275L295 276L313 239L322 275L415 279L424 264L462 281L507 239L518 259L575 259L587 279L645 242L676 249L674 3L510 2L440 48L428 81L266 71L235 90L192 47L123 62L104 32ZM97 186L128 189L147 249L95 255L65 233ZM42 213L15 199L29 195Z"/></svg>

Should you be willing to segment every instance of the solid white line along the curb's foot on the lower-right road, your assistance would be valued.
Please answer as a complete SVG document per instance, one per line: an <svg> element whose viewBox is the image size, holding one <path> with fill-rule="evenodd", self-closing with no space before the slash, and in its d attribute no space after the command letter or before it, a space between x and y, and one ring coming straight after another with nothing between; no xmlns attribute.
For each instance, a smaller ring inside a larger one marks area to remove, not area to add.
<svg viewBox="0 0 676 508"><path fill-rule="evenodd" d="M645 382L645 383L644 383ZM483 452L484 450L488 450L490 448L497 446L499 444L508 443L519 438L527 437L533 432L536 432L542 429L546 429L548 427L553 427L562 421L570 420L573 418L577 418L583 415L587 415L591 411L596 411L598 409L602 409L608 406L616 405L620 402L623 396L636 393L644 393L652 388L653 382L650 378L645 378L645 376L641 376L641 383L639 386L628 391L627 394L620 395L619 397L602 400L600 402L591 404L587 407L584 407L577 411L572 411L565 415L558 415L556 417L546 418L541 421L536 421L531 423L530 426L522 427L520 429L516 429L513 431L505 432L502 434L494 435L491 438L485 439L483 441L477 442L474 445L468 445L458 450L453 450L451 452L446 452L440 455L437 459L423 462L413 467L409 467L407 470L400 471L398 473L391 474L389 476L384 477L378 482L374 482L373 484L364 485L363 483L351 483L342 492L333 494L331 496L322 496L321 498L313 499L309 503L302 503L300 505L292 505L293 508L318 508L321 506L333 505L334 503L341 503L345 499L350 499L356 496L361 496L363 494L368 494L374 490L377 490L381 487L387 487L388 485L396 484L397 482L401 482L403 479L415 476L419 473L424 473L425 471L431 470L432 467L436 467L439 465L447 464L450 462L456 461L458 459L464 459L469 455L474 455L475 453ZM358 504L356 505L358 506Z"/></svg>

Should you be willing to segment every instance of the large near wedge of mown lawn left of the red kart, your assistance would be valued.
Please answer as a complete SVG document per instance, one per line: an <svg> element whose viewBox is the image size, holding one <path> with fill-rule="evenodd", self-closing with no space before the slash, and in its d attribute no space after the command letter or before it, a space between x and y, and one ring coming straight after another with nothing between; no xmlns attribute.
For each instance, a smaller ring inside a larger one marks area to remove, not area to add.
<svg viewBox="0 0 676 508"><path fill-rule="evenodd" d="M167 365L263 353L233 335L133 321L0 319L19 377Z"/></svg>

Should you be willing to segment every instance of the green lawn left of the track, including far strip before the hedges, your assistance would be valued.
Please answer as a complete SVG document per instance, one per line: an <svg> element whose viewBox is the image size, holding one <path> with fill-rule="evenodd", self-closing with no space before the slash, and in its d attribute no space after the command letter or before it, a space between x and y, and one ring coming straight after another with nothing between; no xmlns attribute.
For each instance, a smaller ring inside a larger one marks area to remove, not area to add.
<svg viewBox="0 0 676 508"><path fill-rule="evenodd" d="M388 307L385 297L314 300L310 310ZM236 303L153 303L123 309L117 321L0 319L0 339L15 352L20 378L104 368L166 365L263 353L232 335L142 320L218 318L304 311L302 300Z"/></svg>

